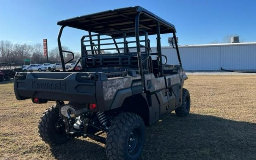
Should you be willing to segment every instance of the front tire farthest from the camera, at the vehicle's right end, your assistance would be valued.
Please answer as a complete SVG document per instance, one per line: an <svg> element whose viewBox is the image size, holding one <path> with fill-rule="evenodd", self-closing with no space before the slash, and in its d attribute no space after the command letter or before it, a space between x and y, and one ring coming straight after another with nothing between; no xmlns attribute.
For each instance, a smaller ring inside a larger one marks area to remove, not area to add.
<svg viewBox="0 0 256 160"><path fill-rule="evenodd" d="M185 117L190 111L190 95L187 89L182 89L182 104L180 107L175 109L175 113L179 117Z"/></svg>

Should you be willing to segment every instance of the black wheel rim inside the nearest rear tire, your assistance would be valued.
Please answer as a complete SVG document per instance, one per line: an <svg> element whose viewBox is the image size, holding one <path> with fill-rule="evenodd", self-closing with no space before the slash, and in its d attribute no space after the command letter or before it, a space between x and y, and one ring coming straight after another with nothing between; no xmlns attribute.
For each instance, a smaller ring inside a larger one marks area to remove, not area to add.
<svg viewBox="0 0 256 160"><path fill-rule="evenodd" d="M134 128L132 132L130 132L129 138L128 138L128 143L127 143L127 148L128 152L131 155L136 154L138 151L138 148L141 143L141 132L140 129Z"/></svg>

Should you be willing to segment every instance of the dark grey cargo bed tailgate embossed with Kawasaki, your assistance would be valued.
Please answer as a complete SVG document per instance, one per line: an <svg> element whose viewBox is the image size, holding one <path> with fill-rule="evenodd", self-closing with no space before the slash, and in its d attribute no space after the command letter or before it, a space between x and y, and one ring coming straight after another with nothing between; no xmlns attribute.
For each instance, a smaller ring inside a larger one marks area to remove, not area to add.
<svg viewBox="0 0 256 160"><path fill-rule="evenodd" d="M96 103L96 80L83 72L22 72L14 78L18 100L42 98L78 103Z"/></svg>

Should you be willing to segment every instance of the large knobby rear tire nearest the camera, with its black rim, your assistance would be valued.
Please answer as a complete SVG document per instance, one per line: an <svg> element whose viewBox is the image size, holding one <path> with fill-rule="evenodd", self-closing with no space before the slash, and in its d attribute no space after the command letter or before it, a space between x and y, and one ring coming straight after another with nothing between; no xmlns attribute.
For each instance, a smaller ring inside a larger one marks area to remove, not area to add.
<svg viewBox="0 0 256 160"><path fill-rule="evenodd" d="M112 122L106 139L109 160L137 160L145 143L145 124L134 113L121 113Z"/></svg>

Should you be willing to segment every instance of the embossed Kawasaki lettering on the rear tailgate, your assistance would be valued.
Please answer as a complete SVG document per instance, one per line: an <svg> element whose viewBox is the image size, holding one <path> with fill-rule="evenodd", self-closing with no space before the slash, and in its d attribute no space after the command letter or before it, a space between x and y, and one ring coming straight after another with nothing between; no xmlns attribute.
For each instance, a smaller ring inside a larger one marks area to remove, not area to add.
<svg viewBox="0 0 256 160"><path fill-rule="evenodd" d="M67 89L67 84L66 84L66 82L50 83L50 82L32 81L32 88L33 89L65 91Z"/></svg>

